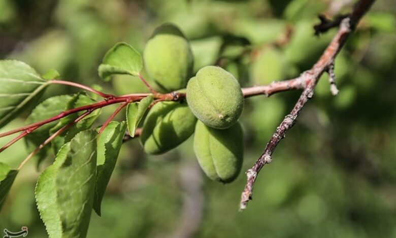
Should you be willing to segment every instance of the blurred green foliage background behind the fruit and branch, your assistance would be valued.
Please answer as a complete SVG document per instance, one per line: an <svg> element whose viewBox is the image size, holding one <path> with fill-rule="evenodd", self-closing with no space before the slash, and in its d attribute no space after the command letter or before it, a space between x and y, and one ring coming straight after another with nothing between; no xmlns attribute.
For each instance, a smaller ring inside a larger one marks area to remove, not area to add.
<svg viewBox="0 0 396 238"><path fill-rule="evenodd" d="M269 84L310 68L336 31L314 36L317 14L347 13L351 2L0 0L0 57L23 60L41 73L55 68L64 80L105 92L145 92L129 76L103 82L97 66L116 42L143 52L155 27L173 22L190 39L195 71L219 64L244 87ZM245 175L227 185L207 179L191 138L160 156L145 155L132 140L121 149L102 217L92 212L88 237L396 237L395 6L377 1L362 19L336 60L340 94L331 95L323 75L273 162L261 170L247 210L238 211ZM51 86L42 99L73 92ZM246 100L243 172L299 94ZM22 126L28 114L2 131ZM27 153L19 141L1 161L15 168ZM51 160L39 171L35 161L22 169L0 214L1 230L27 226L28 237L47 236L34 188Z"/></svg>

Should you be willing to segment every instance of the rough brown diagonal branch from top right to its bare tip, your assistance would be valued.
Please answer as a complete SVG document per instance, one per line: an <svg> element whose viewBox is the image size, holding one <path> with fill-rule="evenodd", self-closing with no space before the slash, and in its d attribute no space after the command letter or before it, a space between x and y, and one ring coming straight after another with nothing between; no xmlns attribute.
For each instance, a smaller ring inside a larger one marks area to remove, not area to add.
<svg viewBox="0 0 396 238"><path fill-rule="evenodd" d="M276 129L276 132L268 142L264 152L258 158L257 162L251 169L246 171L247 183L241 195L240 210L245 209L249 200L252 199L253 185L257 178L257 174L261 168L269 164L272 160L271 155L279 142L285 137L286 132L294 125L297 116L301 112L304 105L312 98L315 86L323 74L334 65L334 59L338 52L344 46L346 39L360 20L360 18L369 10L375 0L360 0L354 7L353 12L349 17L342 20L340 28L333 38L332 42L327 46L325 51L315 65L305 71L299 77L299 81L304 82L305 89L301 94L299 100L294 105L291 112L285 116L282 123ZM331 69L330 69L331 70ZM294 79L297 80L297 79Z"/></svg>

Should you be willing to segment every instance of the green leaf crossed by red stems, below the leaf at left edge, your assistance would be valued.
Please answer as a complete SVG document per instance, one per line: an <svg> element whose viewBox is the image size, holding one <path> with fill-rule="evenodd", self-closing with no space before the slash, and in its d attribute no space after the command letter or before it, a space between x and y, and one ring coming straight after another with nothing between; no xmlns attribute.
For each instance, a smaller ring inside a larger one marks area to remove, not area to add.
<svg viewBox="0 0 396 238"><path fill-rule="evenodd" d="M61 95L48 98L36 106L30 113L30 115L26 118L26 124L32 124L36 122L40 122L46 120L52 116L55 116L63 111L65 108L66 103L72 98L70 95ZM27 145L27 149L29 151L35 149L37 146L42 144L49 136L50 136L50 129L57 124L57 121L47 123L38 129L32 131L31 133L27 134L25 138L25 142ZM38 157L37 166L44 160L47 156L48 149L50 145L45 146L42 148L35 157Z"/></svg>

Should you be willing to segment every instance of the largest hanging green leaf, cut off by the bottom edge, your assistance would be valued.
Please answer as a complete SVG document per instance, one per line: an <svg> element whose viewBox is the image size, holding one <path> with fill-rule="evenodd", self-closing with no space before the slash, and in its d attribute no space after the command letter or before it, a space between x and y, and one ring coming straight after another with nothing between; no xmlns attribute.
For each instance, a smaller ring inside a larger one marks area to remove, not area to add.
<svg viewBox="0 0 396 238"><path fill-rule="evenodd" d="M96 135L78 133L39 177L36 203L49 237L85 237L96 172Z"/></svg>

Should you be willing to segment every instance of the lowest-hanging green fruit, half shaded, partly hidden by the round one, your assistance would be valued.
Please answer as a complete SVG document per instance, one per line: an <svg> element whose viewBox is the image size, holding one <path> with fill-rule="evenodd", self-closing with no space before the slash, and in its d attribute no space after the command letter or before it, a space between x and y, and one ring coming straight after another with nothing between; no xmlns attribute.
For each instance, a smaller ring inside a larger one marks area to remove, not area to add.
<svg viewBox="0 0 396 238"><path fill-rule="evenodd" d="M214 129L197 122L194 152L205 174L223 183L234 181L243 162L243 132L235 123L225 130Z"/></svg>

